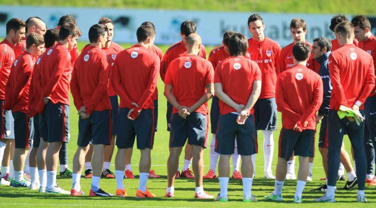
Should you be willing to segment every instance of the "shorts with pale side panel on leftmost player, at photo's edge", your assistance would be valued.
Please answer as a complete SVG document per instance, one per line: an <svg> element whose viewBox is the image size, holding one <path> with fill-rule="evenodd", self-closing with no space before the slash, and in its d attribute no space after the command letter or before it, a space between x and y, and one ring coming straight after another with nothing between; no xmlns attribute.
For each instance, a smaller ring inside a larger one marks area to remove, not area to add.
<svg viewBox="0 0 376 208"><path fill-rule="evenodd" d="M4 110L5 100L0 100L0 138L14 139L14 119L11 111Z"/></svg>

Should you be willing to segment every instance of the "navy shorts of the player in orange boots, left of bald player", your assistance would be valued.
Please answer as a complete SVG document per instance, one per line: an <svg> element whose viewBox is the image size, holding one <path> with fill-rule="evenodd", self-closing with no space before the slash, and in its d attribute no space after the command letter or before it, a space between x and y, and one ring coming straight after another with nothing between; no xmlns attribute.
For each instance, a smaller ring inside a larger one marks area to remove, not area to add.
<svg viewBox="0 0 376 208"><path fill-rule="evenodd" d="M129 120L128 108L121 108L118 117L118 135L116 146L120 149L133 148L137 136L137 149L153 149L154 109L143 109L136 120Z"/></svg>

